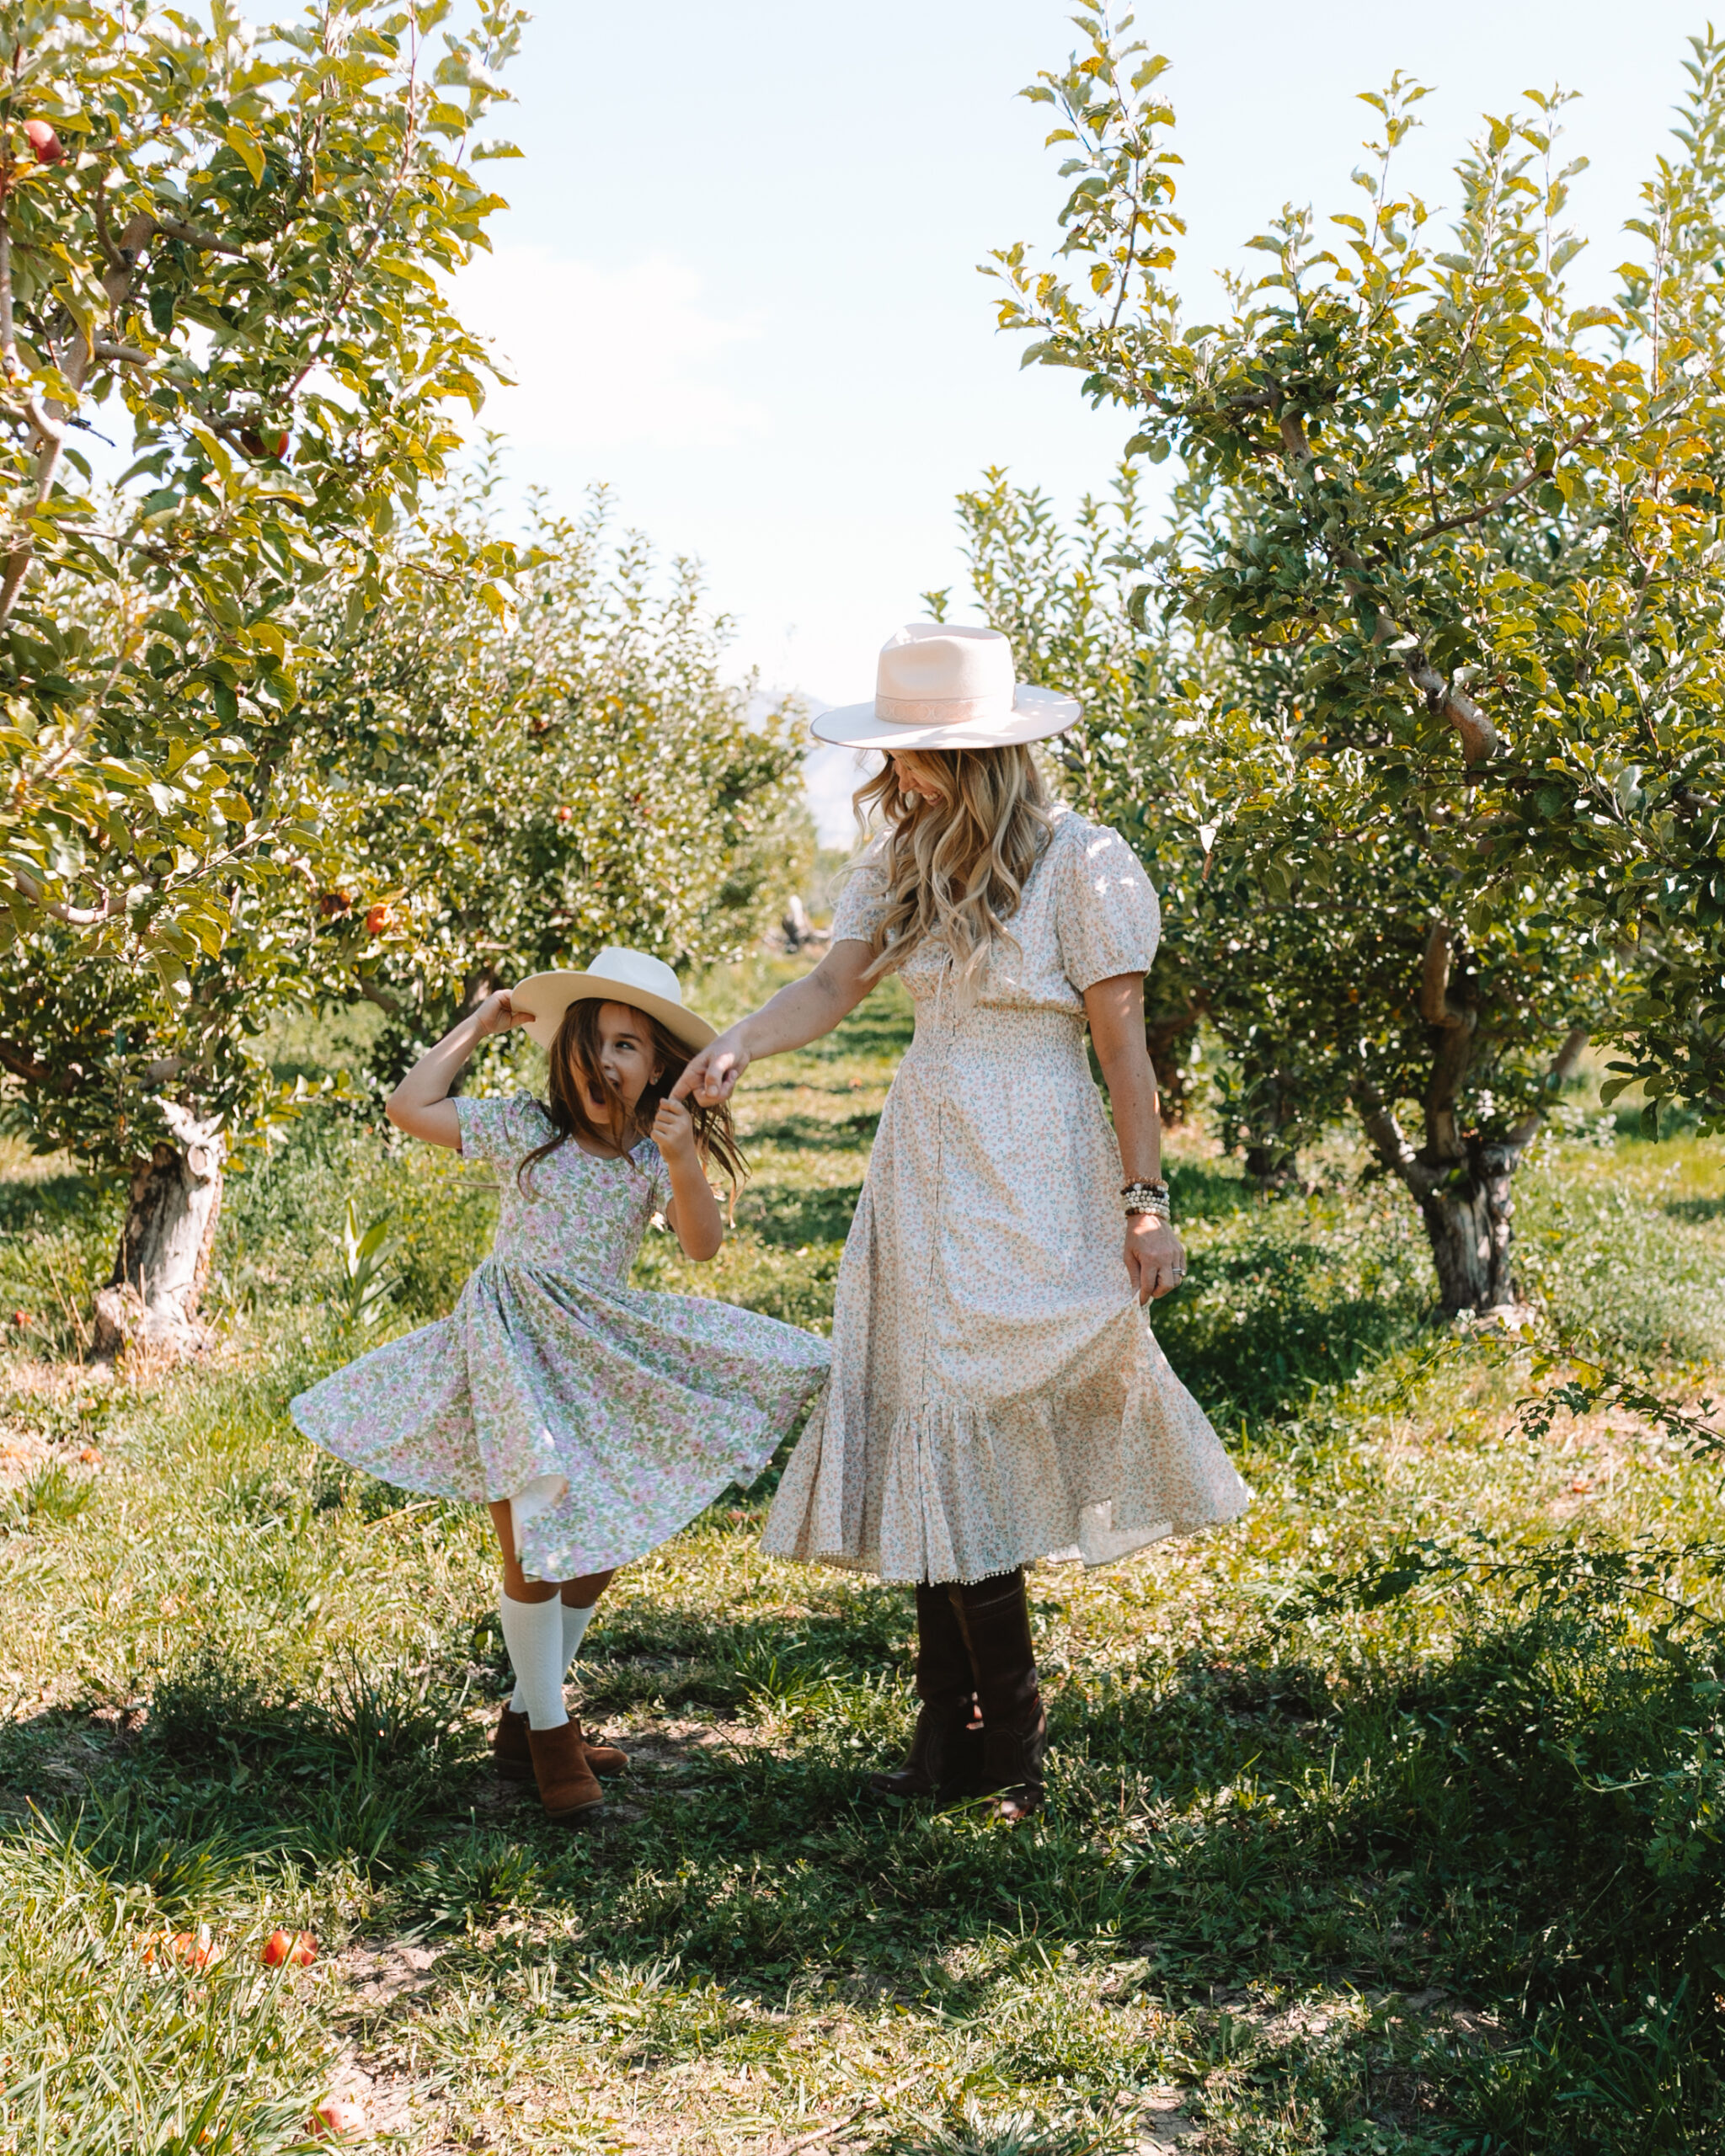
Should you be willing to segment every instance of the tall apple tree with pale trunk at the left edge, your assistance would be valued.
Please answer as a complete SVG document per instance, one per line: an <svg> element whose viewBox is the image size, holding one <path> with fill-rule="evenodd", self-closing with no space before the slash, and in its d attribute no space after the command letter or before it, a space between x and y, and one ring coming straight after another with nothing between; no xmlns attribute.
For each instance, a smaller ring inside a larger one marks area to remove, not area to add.
<svg viewBox="0 0 1725 2156"><path fill-rule="evenodd" d="M110 1343L192 1337L267 1091L246 1039L326 955L336 787L285 755L308 602L380 602L453 403L481 403L444 278L498 205L479 132L522 19L0 19L0 1069L132 1177ZM114 438L104 489L86 448Z"/></svg>

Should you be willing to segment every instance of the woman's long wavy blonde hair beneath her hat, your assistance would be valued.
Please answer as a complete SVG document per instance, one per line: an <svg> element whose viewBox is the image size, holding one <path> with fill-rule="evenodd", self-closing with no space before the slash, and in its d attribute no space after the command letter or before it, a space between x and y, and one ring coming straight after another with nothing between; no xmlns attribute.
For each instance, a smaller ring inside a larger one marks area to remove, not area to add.
<svg viewBox="0 0 1725 2156"><path fill-rule="evenodd" d="M919 783L921 780L921 783ZM972 994L1054 828L1052 793L1029 746L901 750L852 796L865 830L884 828L886 918L865 975L895 972L944 936L960 994Z"/></svg>

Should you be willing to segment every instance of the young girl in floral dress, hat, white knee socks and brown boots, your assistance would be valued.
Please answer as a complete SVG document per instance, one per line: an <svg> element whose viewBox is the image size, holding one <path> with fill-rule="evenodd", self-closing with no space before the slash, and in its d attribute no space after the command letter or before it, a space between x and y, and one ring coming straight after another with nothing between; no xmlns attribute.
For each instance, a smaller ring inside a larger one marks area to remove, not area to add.
<svg viewBox="0 0 1725 2156"><path fill-rule="evenodd" d="M526 1026L550 1050L548 1102L451 1100L472 1050ZM671 1100L714 1028L640 951L498 990L420 1056L388 1119L498 1171L492 1255L433 1326L360 1356L293 1401L300 1429L399 1490L485 1498L502 1552L498 1615L515 1695L500 1774L554 1820L595 1811L619 1772L563 1705L563 1677L619 1565L748 1483L826 1376L826 1341L729 1302L627 1285L662 1214L692 1259L724 1220L707 1186L744 1164L729 1108Z"/></svg>

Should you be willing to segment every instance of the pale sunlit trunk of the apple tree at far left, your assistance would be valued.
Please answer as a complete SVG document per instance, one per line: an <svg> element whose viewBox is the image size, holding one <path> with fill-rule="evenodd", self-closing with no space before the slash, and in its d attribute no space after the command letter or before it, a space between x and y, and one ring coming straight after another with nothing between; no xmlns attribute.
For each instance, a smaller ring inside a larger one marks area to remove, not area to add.
<svg viewBox="0 0 1725 2156"><path fill-rule="evenodd" d="M218 1123L172 1104L164 1112L177 1143L164 1141L134 1169L114 1276L95 1298L95 1363L129 1345L179 1363L209 1339L198 1304L222 1210L224 1145Z"/></svg>

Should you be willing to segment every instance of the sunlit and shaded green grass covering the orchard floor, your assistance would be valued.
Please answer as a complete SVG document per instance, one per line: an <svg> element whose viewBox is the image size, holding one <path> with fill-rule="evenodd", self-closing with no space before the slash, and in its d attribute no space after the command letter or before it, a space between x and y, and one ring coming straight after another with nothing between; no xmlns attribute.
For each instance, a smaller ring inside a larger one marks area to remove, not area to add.
<svg viewBox="0 0 1725 2156"><path fill-rule="evenodd" d="M753 1074L733 1240L640 1276L822 1328L906 1031L882 996ZM1158 1332L1257 1503L1033 1576L1054 1800L1020 1833L860 1798L910 1595L761 1559L770 1479L606 1598L589 1720L636 1768L548 1830L485 1766L483 1518L285 1414L358 1345L347 1192L397 1235L384 1337L459 1289L485 1177L306 1119L231 1184L213 1358L132 1391L58 1360L116 1192L6 1169L0 2150L291 2150L341 2081L425 2150L778 2150L856 2111L834 2145L1123 2156L1175 2102L1244 2156L1721 2145L1719 1468L1624 1414L1529 1445L1343 1149L1255 1205L1175 1147ZM1578 1132L1518 1207L1565 1326L1710 1382L1725 1147ZM1647 1542L1678 1554L1600 1561ZM315 1968L261 1968L276 1923ZM144 1964L198 1925L207 1968Z"/></svg>

